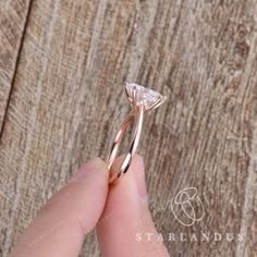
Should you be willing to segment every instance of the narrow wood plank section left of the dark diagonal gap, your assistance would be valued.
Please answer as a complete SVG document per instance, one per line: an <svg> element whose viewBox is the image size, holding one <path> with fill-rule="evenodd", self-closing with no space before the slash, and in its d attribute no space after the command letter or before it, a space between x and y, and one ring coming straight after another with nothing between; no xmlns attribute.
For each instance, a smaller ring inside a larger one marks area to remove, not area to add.
<svg viewBox="0 0 257 257"><path fill-rule="evenodd" d="M29 11L29 0L0 3L0 134Z"/></svg>

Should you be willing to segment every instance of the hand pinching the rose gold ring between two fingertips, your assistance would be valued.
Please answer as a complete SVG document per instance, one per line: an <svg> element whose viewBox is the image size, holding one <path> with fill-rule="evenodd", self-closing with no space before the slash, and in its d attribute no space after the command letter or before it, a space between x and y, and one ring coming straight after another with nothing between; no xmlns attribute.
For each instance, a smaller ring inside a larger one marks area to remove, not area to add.
<svg viewBox="0 0 257 257"><path fill-rule="evenodd" d="M117 167L121 159L114 163ZM96 228L105 257L169 256L147 206L143 158L108 187L106 163L88 161L39 211L11 257L75 257L85 236ZM143 235L152 233L151 241ZM139 238L138 235L142 235Z"/></svg>

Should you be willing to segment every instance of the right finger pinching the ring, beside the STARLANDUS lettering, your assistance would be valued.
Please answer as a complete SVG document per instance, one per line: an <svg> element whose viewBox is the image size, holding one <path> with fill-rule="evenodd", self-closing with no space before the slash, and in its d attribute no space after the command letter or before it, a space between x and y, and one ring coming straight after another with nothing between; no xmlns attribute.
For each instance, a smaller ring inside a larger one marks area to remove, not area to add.
<svg viewBox="0 0 257 257"><path fill-rule="evenodd" d="M114 169L119 162L121 159ZM152 240L143 236L147 233ZM157 241L148 210L142 157L135 156L127 173L110 187L97 235L105 257L169 256L162 242Z"/></svg>

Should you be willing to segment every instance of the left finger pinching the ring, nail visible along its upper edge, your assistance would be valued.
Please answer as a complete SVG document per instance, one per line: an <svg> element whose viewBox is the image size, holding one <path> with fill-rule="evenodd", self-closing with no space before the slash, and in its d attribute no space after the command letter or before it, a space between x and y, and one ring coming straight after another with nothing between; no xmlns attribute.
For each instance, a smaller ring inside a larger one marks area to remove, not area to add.
<svg viewBox="0 0 257 257"><path fill-rule="evenodd" d="M78 256L84 236L103 210L108 175L99 158L87 162L38 213L11 257Z"/></svg>

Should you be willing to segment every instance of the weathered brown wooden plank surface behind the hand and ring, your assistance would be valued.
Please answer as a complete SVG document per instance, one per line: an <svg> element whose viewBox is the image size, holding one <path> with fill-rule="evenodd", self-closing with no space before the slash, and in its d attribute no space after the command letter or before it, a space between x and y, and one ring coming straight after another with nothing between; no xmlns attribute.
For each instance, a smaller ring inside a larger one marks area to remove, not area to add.
<svg viewBox="0 0 257 257"><path fill-rule="evenodd" d="M244 236L167 241L170 255L256 256L255 0L5 0L0 41L1 256L76 168L106 158L125 81L169 97L138 149L159 232ZM183 227L169 203L188 186L205 217ZM91 234L82 256L99 255Z"/></svg>

